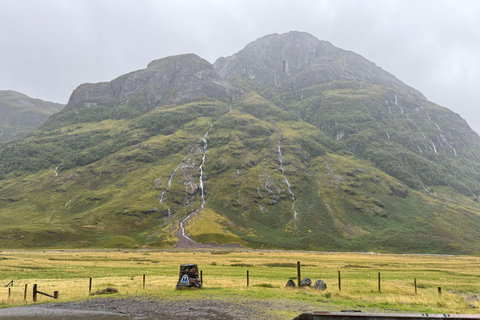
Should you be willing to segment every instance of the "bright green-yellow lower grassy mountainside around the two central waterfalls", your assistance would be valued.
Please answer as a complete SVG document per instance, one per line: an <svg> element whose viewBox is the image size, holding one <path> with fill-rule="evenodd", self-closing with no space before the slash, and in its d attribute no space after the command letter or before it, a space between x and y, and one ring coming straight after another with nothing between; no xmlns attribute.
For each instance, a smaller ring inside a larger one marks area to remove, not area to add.
<svg viewBox="0 0 480 320"><path fill-rule="evenodd" d="M178 220L200 207L199 190L185 190L186 183L198 184L200 138L210 124L207 209L187 228L197 241L478 253L478 203L445 186L432 196L409 189L256 94L233 110L219 102L167 106L28 138L23 147L34 150L46 168L22 171L32 159L9 164L18 170L0 181L0 245L173 245ZM278 145L297 199L296 223ZM161 204L159 196L180 163L190 169L177 171ZM167 217L168 209L173 216Z"/></svg>

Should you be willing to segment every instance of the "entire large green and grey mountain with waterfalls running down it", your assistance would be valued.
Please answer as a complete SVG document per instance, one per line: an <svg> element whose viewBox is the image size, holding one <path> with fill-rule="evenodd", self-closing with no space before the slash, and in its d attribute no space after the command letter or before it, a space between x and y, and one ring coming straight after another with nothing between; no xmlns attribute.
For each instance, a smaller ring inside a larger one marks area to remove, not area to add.
<svg viewBox="0 0 480 320"><path fill-rule="evenodd" d="M480 137L301 32L80 85L0 149L0 246L478 253Z"/></svg>

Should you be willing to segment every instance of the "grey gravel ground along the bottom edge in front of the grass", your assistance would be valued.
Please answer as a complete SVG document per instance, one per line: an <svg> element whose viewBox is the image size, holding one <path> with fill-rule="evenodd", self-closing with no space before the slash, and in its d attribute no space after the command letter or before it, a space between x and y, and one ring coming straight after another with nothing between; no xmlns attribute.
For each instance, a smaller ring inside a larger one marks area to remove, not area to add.
<svg viewBox="0 0 480 320"><path fill-rule="evenodd" d="M278 311L280 311L278 313ZM287 320L312 311L312 307L289 300L245 298L95 298L77 303L49 303L34 307L0 309L0 318L20 319L145 319L145 320Z"/></svg>

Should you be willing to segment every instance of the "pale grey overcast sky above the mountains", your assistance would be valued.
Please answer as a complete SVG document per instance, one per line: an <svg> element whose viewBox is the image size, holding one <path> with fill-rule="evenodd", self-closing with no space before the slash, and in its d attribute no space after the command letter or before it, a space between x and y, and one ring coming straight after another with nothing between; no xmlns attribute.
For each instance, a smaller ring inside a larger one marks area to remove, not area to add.
<svg viewBox="0 0 480 320"><path fill-rule="evenodd" d="M292 30L364 56L480 133L478 0L0 0L0 90L66 103L154 59L214 62Z"/></svg>

